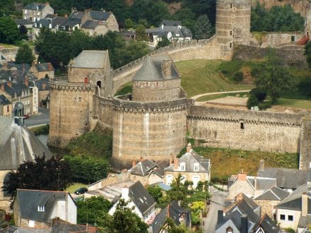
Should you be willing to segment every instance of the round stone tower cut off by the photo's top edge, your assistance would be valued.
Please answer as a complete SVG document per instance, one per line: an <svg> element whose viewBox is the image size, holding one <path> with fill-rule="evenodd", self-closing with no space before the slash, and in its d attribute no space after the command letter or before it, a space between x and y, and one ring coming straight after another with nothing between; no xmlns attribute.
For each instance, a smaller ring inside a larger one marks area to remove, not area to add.
<svg viewBox="0 0 311 233"><path fill-rule="evenodd" d="M250 0L217 0L216 36L218 44L233 49L233 44L250 43Z"/></svg>

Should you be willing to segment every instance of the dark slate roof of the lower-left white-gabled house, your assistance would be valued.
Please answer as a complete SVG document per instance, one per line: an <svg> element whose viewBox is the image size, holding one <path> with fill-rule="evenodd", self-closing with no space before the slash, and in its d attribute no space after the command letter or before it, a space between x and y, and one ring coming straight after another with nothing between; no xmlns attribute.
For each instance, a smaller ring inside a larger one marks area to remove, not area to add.
<svg viewBox="0 0 311 233"><path fill-rule="evenodd" d="M64 191L17 189L16 199L18 200L20 217L49 222L54 204L57 200L66 200L66 195L70 194ZM45 211L37 211L39 205L45 206Z"/></svg>

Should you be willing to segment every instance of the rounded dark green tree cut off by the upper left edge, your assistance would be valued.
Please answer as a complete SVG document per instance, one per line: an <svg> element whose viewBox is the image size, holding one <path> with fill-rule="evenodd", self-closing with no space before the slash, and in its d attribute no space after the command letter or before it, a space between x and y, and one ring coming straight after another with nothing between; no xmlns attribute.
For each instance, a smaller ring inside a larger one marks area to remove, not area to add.
<svg viewBox="0 0 311 233"><path fill-rule="evenodd" d="M11 17L0 18L0 42L13 44L19 39L19 31Z"/></svg>

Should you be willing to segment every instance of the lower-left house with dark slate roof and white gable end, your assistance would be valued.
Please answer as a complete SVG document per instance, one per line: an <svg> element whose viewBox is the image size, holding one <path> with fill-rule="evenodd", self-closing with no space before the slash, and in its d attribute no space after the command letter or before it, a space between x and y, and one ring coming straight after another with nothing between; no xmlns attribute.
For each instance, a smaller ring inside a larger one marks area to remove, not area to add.
<svg viewBox="0 0 311 233"><path fill-rule="evenodd" d="M68 192L17 189L13 215L18 227L46 227L55 217L76 224L77 206Z"/></svg>

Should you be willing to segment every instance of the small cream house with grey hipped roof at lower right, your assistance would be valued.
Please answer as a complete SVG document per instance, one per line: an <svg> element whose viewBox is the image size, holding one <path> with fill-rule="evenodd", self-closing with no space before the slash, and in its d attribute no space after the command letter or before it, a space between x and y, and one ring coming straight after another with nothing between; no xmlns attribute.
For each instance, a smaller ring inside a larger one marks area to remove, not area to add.
<svg viewBox="0 0 311 233"><path fill-rule="evenodd" d="M267 189L254 198L254 202L262 207L262 216L268 215L271 219L276 218L276 205L283 201L290 193L276 186Z"/></svg>

